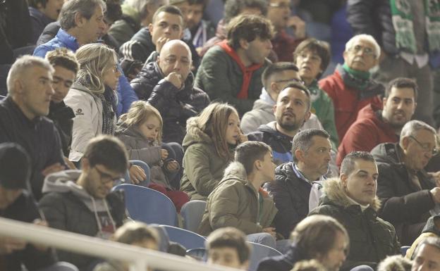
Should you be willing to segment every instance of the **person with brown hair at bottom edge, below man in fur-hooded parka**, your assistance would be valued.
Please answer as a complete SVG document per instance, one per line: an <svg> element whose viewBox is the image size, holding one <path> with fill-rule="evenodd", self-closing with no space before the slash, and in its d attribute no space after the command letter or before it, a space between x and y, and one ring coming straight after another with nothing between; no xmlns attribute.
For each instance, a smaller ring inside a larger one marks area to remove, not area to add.
<svg viewBox="0 0 440 271"><path fill-rule="evenodd" d="M313 215L305 218L291 234L293 243L282 256L263 259L258 271L290 271L301 260L317 260L326 270L338 271L348 253L346 229L334 218Z"/></svg>

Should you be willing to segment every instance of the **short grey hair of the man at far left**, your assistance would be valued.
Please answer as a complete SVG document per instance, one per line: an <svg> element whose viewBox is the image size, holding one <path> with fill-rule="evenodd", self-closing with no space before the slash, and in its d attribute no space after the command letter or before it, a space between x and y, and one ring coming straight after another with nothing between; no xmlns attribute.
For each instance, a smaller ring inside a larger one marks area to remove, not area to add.
<svg viewBox="0 0 440 271"><path fill-rule="evenodd" d="M50 73L54 73L54 68L51 66L49 61L44 58L39 58L38 56L25 55L17 58L16 62L13 63L11 70L9 70L8 78L6 79L6 85L8 87L8 94L14 94L14 84L21 77L26 77L27 69L33 67L41 67L49 70Z"/></svg>

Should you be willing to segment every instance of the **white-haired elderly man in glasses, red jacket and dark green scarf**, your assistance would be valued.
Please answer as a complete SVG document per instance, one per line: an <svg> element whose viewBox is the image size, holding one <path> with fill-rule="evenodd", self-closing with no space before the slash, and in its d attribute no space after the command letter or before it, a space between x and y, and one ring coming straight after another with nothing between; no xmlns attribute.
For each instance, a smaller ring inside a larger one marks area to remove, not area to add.
<svg viewBox="0 0 440 271"><path fill-rule="evenodd" d="M369 70L379 62L380 47L368 34L351 38L343 53L345 63L338 65L333 75L319 81L319 87L329 94L335 108L338 138L343 139L357 113L372 103L380 105L384 87L370 79Z"/></svg>

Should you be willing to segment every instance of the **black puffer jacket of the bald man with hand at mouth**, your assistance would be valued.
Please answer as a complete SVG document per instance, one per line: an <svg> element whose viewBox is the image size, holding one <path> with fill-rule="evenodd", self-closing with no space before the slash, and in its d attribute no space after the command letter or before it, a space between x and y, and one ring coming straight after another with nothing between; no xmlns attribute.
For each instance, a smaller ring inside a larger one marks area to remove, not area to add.
<svg viewBox="0 0 440 271"><path fill-rule="evenodd" d="M186 120L202 111L209 104L209 97L193 86L192 73L186 78L185 86L181 90L163 79L159 65L150 62L130 84L139 99L147 100L161 113L164 120L162 140L182 144Z"/></svg>

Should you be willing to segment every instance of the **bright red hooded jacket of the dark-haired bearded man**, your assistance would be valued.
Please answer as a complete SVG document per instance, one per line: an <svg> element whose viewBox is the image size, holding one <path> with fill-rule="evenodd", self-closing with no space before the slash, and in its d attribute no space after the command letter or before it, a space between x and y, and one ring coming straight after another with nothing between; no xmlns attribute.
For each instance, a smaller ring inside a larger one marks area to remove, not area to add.
<svg viewBox="0 0 440 271"><path fill-rule="evenodd" d="M372 151L386 142L397 142L399 137L389 123L382 119L382 111L377 105L369 104L357 113L357 120L348 128L338 148L336 164L352 151Z"/></svg>

